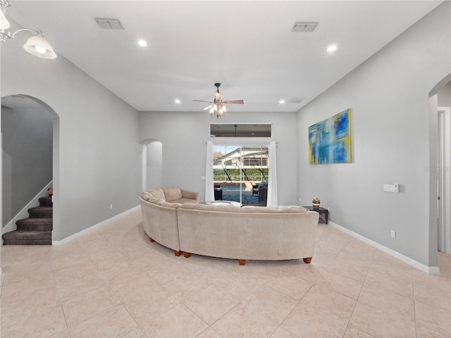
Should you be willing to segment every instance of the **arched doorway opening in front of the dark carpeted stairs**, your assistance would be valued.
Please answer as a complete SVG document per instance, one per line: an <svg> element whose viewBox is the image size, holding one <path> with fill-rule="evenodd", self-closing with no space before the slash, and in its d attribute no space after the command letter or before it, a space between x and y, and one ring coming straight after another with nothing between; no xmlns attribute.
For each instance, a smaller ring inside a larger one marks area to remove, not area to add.
<svg viewBox="0 0 451 338"><path fill-rule="evenodd" d="M16 221L28 217L28 206L37 203L50 186L55 196L55 229L59 225L58 114L34 96L4 96L1 129L2 234L16 230Z"/></svg>

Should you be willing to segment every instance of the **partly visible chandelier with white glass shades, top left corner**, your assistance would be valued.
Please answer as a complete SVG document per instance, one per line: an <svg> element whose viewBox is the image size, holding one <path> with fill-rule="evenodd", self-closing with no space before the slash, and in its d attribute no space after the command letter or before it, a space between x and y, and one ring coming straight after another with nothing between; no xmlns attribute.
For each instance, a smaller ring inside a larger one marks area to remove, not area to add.
<svg viewBox="0 0 451 338"><path fill-rule="evenodd" d="M56 58L56 53L51 48L51 44L45 39L42 30L38 30L30 21L27 20L27 23L31 29L23 28L16 30L16 32L8 30L10 23L5 16L7 7L11 7L11 3L8 0L0 0L0 41L5 42L7 39L14 39L18 32L33 32L35 35L27 39L23 49L32 55L39 56L39 58Z"/></svg>

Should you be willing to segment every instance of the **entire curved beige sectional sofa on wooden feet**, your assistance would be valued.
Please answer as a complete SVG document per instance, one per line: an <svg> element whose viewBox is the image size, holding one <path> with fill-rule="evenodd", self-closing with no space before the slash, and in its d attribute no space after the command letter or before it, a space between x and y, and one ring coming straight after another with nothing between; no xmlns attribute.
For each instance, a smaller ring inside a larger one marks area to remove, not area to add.
<svg viewBox="0 0 451 338"><path fill-rule="evenodd" d="M313 257L319 213L300 206L199 204L198 199L180 204L168 201L164 189L160 198L152 190L140 196L144 231L151 242L173 249L175 256L183 252L185 257L195 253L232 258L240 265L249 259L302 258L310 263Z"/></svg>

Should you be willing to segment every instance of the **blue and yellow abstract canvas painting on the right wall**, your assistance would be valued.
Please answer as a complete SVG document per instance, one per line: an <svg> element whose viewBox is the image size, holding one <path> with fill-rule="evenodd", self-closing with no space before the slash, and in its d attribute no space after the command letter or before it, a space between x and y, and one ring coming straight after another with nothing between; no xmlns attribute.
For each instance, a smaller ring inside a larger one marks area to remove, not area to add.
<svg viewBox="0 0 451 338"><path fill-rule="evenodd" d="M351 109L309 127L309 164L351 163Z"/></svg>

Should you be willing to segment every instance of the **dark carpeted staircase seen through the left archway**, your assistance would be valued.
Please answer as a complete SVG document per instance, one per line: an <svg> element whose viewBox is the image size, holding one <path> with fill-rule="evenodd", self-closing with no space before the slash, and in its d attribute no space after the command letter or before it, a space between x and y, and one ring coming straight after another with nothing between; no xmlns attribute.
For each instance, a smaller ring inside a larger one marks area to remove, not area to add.
<svg viewBox="0 0 451 338"><path fill-rule="evenodd" d="M2 236L3 245L51 245L51 196L39 198L39 206L28 209L28 214L28 218L16 222L17 230L6 232Z"/></svg>

